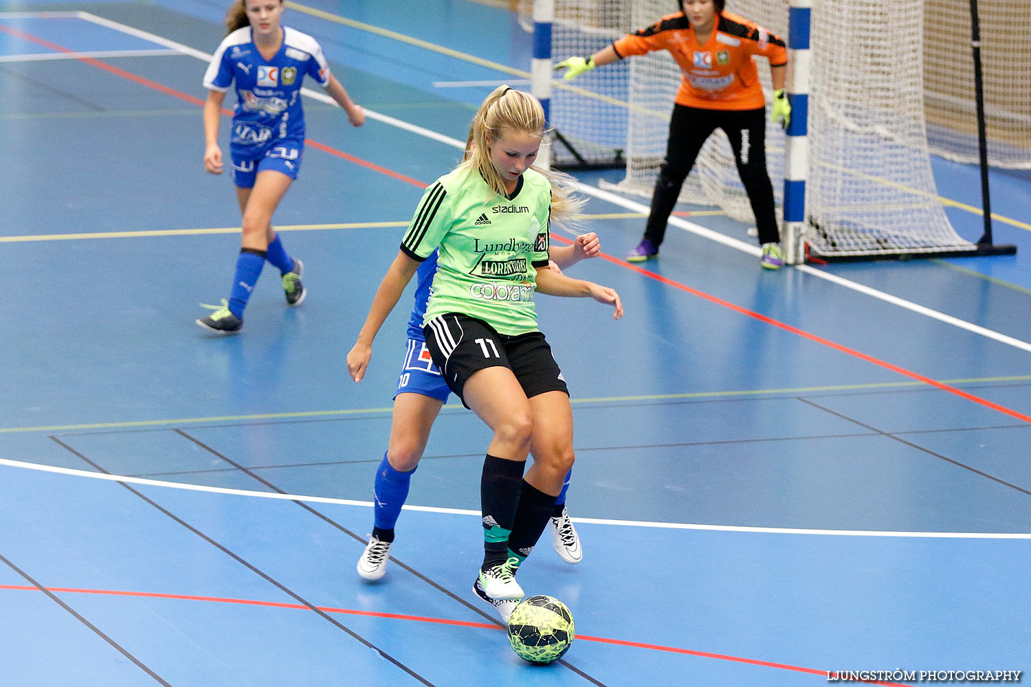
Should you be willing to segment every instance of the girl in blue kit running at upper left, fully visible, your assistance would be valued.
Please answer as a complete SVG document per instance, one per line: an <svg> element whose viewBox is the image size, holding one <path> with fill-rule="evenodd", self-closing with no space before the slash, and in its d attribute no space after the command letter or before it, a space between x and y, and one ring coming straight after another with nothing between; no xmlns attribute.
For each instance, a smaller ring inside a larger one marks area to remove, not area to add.
<svg viewBox="0 0 1031 687"><path fill-rule="evenodd" d="M204 169L222 174L219 119L226 93L235 81L236 107L230 156L236 199L243 214L242 239L228 302L205 306L214 312L197 320L220 334L236 334L243 308L267 260L282 275L287 303L300 305L304 265L291 257L272 229L272 213L297 178L304 153L301 84L310 76L343 108L354 127L365 112L330 73L322 47L311 36L280 24L284 0L237 0L226 14L229 33L204 74Z"/></svg>

